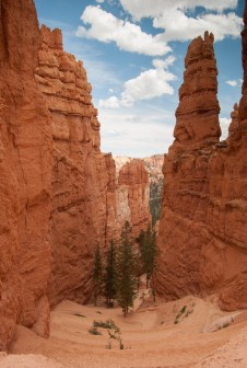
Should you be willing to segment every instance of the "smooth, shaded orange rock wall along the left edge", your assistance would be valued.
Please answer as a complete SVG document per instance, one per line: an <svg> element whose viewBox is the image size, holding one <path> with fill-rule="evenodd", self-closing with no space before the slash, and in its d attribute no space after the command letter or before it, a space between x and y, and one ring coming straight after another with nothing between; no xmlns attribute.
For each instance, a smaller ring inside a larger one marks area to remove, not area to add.
<svg viewBox="0 0 247 368"><path fill-rule="evenodd" d="M33 1L1 0L0 349L16 323L49 333L52 139L34 79L39 41Z"/></svg>

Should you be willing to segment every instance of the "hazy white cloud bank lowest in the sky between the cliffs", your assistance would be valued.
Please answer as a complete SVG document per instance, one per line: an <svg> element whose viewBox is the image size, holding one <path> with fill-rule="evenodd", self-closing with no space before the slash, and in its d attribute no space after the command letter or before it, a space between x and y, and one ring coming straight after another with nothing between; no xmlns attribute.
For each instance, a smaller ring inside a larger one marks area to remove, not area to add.
<svg viewBox="0 0 247 368"><path fill-rule="evenodd" d="M164 153L174 140L174 112L163 108L148 106L145 114L137 108L99 110L98 118L102 151L115 156L143 158Z"/></svg>

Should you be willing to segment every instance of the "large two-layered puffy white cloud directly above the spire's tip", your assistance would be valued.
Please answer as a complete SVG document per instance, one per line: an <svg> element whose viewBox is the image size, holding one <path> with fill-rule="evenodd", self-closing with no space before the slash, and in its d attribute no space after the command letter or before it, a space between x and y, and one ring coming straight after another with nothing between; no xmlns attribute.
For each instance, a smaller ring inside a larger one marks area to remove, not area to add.
<svg viewBox="0 0 247 368"><path fill-rule="evenodd" d="M185 42L202 35L204 31L213 32L214 39L221 41L226 36L239 37L243 21L235 13L222 11L235 9L237 0L120 0L124 9L133 19L151 18L153 26L163 28L156 37L163 42ZM197 16L187 13L197 7L203 7L208 12ZM211 13L209 13L211 11ZM214 11L214 13L212 13ZM217 13L215 13L215 11ZM220 13L219 13L220 12Z"/></svg>

